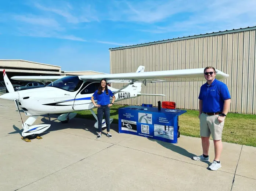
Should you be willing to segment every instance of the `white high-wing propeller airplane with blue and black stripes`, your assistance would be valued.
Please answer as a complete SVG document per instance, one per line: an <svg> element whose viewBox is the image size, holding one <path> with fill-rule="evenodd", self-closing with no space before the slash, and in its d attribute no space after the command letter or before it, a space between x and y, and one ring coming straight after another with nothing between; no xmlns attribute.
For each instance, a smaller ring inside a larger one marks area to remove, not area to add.
<svg viewBox="0 0 256 191"><path fill-rule="evenodd" d="M14 101L19 111L21 108L28 119L23 122L22 117L22 139L29 142L29 139L38 138L40 133L46 131L51 125L40 124L32 125L38 116L48 114L64 113L58 117L59 121L68 122L75 117L76 111L90 110L95 119L97 116L92 110L95 108L91 102L91 96L98 89L101 79L106 79L108 83L127 83L121 89L108 87L115 97L116 101L134 98L141 95L165 96L162 94L142 94L141 85L147 85L147 82L180 82L180 81L204 81L203 70L184 69L144 72L144 66L139 66L134 73L121 74L98 74L98 75L80 75L80 76L14 76L11 79L28 80L37 82L51 82L46 87L37 89L14 91L6 71L3 71L4 82L9 93L0 96L1 99ZM226 79L228 74L216 70L217 79ZM97 102L97 100L95 100ZM112 122L113 119L110 120ZM97 128L97 123L95 127ZM105 120L102 120L105 125ZM104 127L104 126L102 126Z"/></svg>

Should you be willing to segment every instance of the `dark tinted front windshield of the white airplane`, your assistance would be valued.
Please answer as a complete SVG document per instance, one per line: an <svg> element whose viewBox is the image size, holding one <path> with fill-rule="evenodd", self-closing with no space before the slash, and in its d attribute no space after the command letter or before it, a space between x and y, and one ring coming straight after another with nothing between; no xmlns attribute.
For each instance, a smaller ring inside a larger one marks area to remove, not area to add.
<svg viewBox="0 0 256 191"><path fill-rule="evenodd" d="M66 76L64 78L55 80L51 82L49 87L57 87L60 89L68 90L68 91L76 91L80 88L83 81L78 78L78 76Z"/></svg>

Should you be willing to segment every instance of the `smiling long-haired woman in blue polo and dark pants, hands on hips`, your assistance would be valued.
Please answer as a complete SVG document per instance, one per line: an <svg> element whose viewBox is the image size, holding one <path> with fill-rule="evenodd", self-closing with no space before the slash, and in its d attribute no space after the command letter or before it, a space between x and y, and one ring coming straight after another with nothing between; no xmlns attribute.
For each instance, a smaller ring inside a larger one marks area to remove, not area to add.
<svg viewBox="0 0 256 191"><path fill-rule="evenodd" d="M112 102L110 102L110 97L113 97ZM97 104L95 103L95 100L97 100ZM91 96L91 101L93 102L93 105L97 107L97 117L98 117L98 136L97 139L101 138L101 127L102 127L102 118L103 113L105 116L105 121L107 125L107 136L109 138L112 138L112 135L110 132L110 124L109 124L109 117L110 117L110 107L113 105L115 101L115 96L113 95L112 91L108 89L107 81L105 79L102 79L100 81L100 86L98 87L98 90L96 90Z"/></svg>

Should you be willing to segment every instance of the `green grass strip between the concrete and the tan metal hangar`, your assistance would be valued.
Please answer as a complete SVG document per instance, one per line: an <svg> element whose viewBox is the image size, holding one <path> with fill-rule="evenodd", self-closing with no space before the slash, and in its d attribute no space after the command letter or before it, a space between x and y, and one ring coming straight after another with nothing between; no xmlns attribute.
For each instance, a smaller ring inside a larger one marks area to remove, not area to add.
<svg viewBox="0 0 256 191"><path fill-rule="evenodd" d="M110 117L114 119L113 123L118 124L118 109L123 107L126 106L116 104L111 106ZM93 110L97 114L97 109ZM198 114L198 111L187 110L179 116L181 135L200 137ZM95 120L88 110L77 112L77 117ZM256 115L228 113L222 141L256 147Z"/></svg>

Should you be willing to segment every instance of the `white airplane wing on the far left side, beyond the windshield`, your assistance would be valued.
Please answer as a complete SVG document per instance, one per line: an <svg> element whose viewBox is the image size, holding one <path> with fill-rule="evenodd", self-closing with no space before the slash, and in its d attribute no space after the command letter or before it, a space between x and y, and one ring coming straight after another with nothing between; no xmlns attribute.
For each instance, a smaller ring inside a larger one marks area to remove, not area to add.
<svg viewBox="0 0 256 191"><path fill-rule="evenodd" d="M66 76L13 76L11 79L31 82L53 82Z"/></svg>

